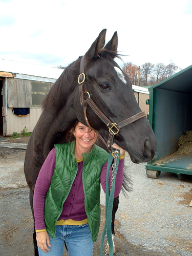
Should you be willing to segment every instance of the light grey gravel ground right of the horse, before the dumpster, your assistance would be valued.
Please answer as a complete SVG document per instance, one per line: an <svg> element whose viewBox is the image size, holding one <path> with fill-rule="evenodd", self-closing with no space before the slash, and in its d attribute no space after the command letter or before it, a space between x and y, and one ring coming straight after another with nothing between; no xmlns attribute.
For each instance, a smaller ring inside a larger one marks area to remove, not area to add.
<svg viewBox="0 0 192 256"><path fill-rule="evenodd" d="M146 251L165 255L192 255L191 214L192 177L179 180L177 175L162 172L158 179L146 177L145 165L125 163L133 190L125 198L120 194L116 219L117 230L126 241ZM101 204L104 205L104 193Z"/></svg>

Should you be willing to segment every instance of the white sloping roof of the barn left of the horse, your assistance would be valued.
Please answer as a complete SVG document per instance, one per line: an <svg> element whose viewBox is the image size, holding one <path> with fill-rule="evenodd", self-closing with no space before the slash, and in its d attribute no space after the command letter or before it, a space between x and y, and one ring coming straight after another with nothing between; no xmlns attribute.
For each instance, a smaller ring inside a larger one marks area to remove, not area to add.
<svg viewBox="0 0 192 256"><path fill-rule="evenodd" d="M29 76L57 79L63 72L63 69L0 59L0 72L11 72Z"/></svg>

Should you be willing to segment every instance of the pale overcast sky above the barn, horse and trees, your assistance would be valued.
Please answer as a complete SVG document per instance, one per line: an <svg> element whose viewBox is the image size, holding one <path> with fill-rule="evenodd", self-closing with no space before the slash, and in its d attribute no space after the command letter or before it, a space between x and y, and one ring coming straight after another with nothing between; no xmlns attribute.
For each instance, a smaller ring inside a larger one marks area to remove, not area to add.
<svg viewBox="0 0 192 256"><path fill-rule="evenodd" d="M0 0L0 59L67 67L102 29L119 66L192 65L192 0Z"/></svg>

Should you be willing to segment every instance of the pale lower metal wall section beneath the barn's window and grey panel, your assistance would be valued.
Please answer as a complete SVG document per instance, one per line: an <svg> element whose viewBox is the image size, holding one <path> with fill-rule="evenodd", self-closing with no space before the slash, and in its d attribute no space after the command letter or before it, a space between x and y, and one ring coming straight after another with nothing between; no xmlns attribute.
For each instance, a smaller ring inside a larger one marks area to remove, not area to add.
<svg viewBox="0 0 192 256"><path fill-rule="evenodd" d="M32 132L41 114L41 108L31 108L28 116L15 116L11 108L7 108L7 134L21 133L25 126L28 132Z"/></svg>

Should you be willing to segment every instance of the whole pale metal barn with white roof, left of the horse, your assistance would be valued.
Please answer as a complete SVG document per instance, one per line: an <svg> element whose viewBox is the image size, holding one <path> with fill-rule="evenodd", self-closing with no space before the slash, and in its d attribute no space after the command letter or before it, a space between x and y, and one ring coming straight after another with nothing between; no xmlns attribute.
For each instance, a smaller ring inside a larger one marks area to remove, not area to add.
<svg viewBox="0 0 192 256"><path fill-rule="evenodd" d="M62 73L63 70L58 68L0 59L0 79L3 80L0 124L3 122L4 136L13 132L20 134L25 126L28 132L33 131L41 114L44 96ZM30 114L15 116L12 108L30 108Z"/></svg>

